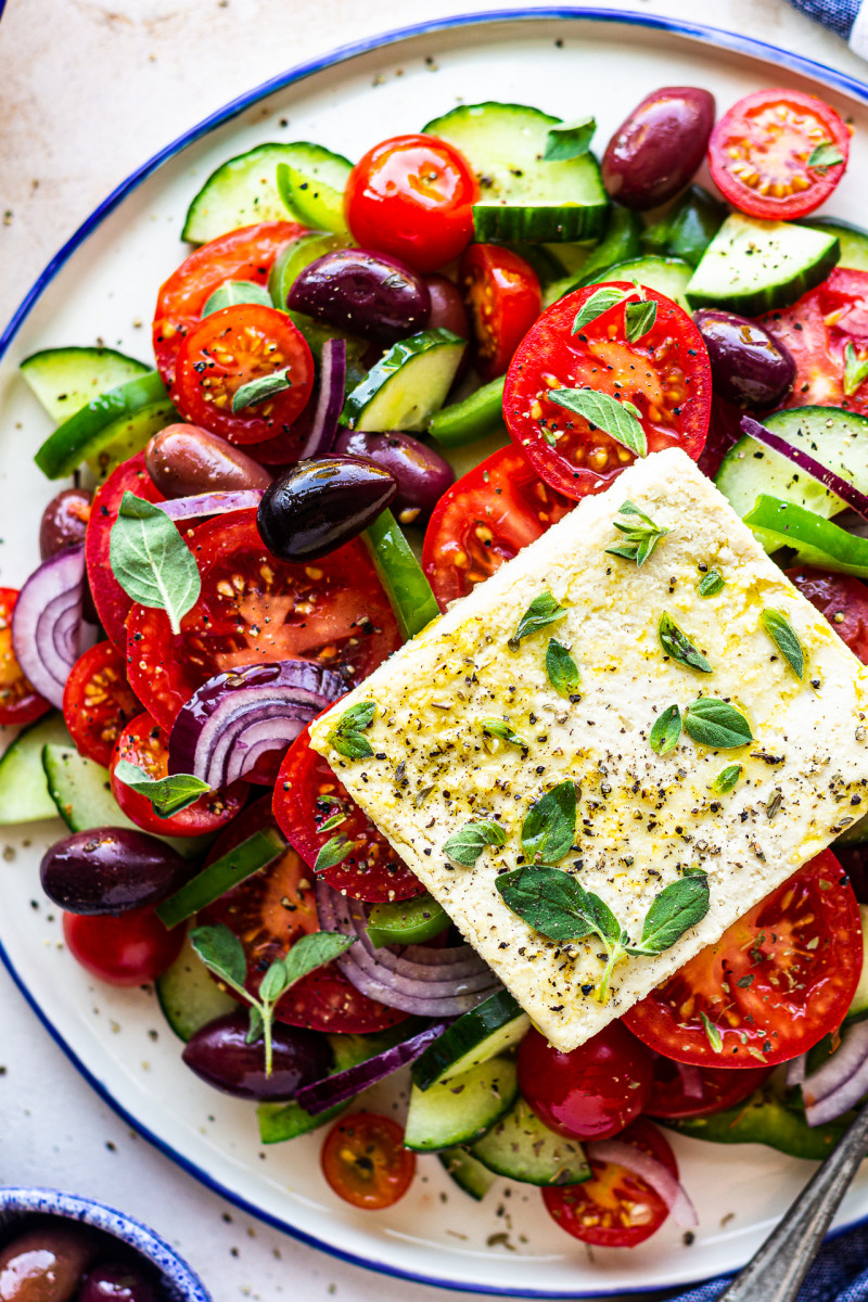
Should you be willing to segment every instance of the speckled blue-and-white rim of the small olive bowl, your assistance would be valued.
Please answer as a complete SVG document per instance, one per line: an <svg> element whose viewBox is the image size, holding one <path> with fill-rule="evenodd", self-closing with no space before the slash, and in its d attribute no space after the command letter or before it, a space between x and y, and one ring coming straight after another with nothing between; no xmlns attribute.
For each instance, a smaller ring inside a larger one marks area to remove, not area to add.
<svg viewBox="0 0 868 1302"><path fill-rule="evenodd" d="M193 1273L183 1258L141 1221L91 1198L62 1194L56 1189L0 1189L0 1236L9 1226L33 1216L60 1216L90 1225L111 1234L155 1268L157 1280L170 1302L212 1302L202 1280Z"/></svg>

